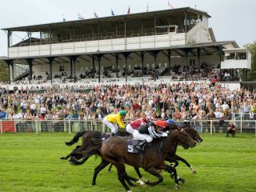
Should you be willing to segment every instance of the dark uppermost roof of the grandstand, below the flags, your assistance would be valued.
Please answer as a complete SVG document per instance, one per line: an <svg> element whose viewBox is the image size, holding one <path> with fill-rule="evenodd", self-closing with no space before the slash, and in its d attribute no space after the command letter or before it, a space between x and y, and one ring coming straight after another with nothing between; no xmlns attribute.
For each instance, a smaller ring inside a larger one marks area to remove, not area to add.
<svg viewBox="0 0 256 192"><path fill-rule="evenodd" d="M129 19L129 20L148 19L155 16L156 17L166 17L166 16L178 17L178 16L183 16L185 13L187 14L188 17L190 15L202 14L207 18L210 18L210 15L202 10L195 10L190 7L183 7L183 8L172 9L172 10L156 10L156 11L150 11L150 12L137 13L137 14L122 14L122 15L116 15L116 16L109 16L109 17L102 17L102 18L88 18L88 19L74 20L74 21L68 21L68 22L53 22L53 23L46 23L46 24L40 24L40 25L34 25L34 26L17 26L17 27L4 28L2 30L38 32L42 30L49 30L49 26L51 26L52 29L54 28L59 29L59 28L66 28L74 25L83 26L86 24L98 25L98 23L102 23L102 22L123 22L124 19Z"/></svg>

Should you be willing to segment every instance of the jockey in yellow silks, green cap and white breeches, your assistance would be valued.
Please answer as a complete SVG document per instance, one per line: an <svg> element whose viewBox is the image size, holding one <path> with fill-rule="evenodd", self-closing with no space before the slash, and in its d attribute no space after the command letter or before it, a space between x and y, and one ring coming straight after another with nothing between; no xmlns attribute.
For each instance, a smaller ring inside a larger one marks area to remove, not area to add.
<svg viewBox="0 0 256 192"><path fill-rule="evenodd" d="M121 129L124 129L126 127L125 124L122 122L122 119L124 118L126 118L126 110L120 110L118 114L108 114L103 119L104 125L109 127L111 130L111 136L114 136L114 134L118 133L118 126Z"/></svg>

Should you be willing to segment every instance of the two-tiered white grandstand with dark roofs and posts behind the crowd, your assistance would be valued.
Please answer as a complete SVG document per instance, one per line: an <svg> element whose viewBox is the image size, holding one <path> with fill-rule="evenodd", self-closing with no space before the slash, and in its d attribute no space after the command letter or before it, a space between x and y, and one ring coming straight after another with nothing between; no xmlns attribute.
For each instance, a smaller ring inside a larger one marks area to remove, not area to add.
<svg viewBox="0 0 256 192"><path fill-rule="evenodd" d="M234 41L217 42L209 19L184 7L6 28L2 61L12 83L246 80L250 52ZM14 33L27 38L12 42Z"/></svg>

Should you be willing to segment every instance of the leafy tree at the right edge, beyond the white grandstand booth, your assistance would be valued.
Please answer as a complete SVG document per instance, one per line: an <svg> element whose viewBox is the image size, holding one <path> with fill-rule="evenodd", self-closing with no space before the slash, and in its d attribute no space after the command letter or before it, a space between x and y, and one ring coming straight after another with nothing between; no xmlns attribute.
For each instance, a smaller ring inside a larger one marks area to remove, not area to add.
<svg viewBox="0 0 256 192"><path fill-rule="evenodd" d="M248 80L256 80L256 41L245 46L251 53L251 70L248 73Z"/></svg>

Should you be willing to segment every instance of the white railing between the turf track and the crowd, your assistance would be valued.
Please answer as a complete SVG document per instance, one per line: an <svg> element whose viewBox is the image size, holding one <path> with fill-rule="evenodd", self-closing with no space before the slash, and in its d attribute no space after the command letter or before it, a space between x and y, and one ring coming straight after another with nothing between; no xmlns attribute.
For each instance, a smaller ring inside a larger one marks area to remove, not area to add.
<svg viewBox="0 0 256 192"><path fill-rule="evenodd" d="M237 133L251 133L256 135L256 120L191 120L190 125L194 126L199 133L226 133L230 121L234 122ZM128 121L125 122L126 124ZM183 121L176 122L182 126ZM40 132L66 132L68 134L83 130L99 130L101 132L110 131L96 120L2 120L0 122L1 134L6 132L13 133L34 133Z"/></svg>

